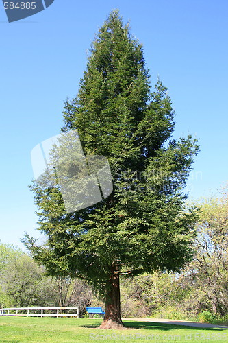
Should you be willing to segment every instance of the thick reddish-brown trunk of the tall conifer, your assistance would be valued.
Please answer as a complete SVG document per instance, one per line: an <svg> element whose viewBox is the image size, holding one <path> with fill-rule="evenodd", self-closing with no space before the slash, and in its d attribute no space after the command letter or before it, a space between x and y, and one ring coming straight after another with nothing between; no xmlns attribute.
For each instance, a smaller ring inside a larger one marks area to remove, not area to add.
<svg viewBox="0 0 228 343"><path fill-rule="evenodd" d="M112 266L110 279L106 284L105 318L99 329L125 329L121 319L121 292L118 266Z"/></svg>

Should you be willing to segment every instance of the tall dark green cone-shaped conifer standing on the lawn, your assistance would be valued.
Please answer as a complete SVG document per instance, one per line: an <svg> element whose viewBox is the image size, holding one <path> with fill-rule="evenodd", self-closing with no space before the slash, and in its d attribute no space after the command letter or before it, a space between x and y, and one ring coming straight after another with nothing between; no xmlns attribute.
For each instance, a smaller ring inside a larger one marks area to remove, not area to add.
<svg viewBox="0 0 228 343"><path fill-rule="evenodd" d="M100 290L101 328L123 327L119 276L177 271L192 257L194 213L183 213L183 187L198 146L192 137L170 140L173 115L162 82L151 91L142 45L112 12L92 43L77 97L65 104L63 130L77 129L86 156L108 158L114 191L66 213L58 187L34 185L47 244L25 239L50 274Z"/></svg>

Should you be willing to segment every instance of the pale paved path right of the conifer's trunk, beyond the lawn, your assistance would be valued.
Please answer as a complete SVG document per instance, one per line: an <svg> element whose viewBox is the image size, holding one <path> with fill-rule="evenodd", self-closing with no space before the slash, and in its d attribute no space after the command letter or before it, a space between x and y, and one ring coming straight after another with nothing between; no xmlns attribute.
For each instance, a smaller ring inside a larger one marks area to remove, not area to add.
<svg viewBox="0 0 228 343"><path fill-rule="evenodd" d="M123 318L123 320L136 320L137 322L160 322L163 324L186 325L188 327L219 327L221 329L228 329L228 327L224 327L222 325L206 324L203 322L188 322L187 320L174 320L164 318Z"/></svg>

